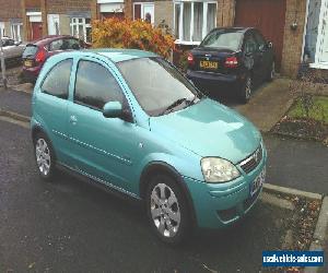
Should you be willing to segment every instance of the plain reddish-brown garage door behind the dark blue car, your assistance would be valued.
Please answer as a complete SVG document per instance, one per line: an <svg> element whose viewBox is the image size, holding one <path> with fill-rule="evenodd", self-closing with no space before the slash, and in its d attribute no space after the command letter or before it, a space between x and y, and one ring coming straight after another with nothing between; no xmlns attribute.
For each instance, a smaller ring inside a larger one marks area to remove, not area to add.
<svg viewBox="0 0 328 273"><path fill-rule="evenodd" d="M237 0L235 26L253 26L273 43L280 69L285 21L285 0Z"/></svg>

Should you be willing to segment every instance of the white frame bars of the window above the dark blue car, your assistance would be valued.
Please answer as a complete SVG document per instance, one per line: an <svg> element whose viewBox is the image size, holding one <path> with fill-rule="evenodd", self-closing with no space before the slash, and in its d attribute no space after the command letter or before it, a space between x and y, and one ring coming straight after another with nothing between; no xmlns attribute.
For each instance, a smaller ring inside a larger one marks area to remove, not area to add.
<svg viewBox="0 0 328 273"><path fill-rule="evenodd" d="M183 32L184 32L184 3L191 3L191 15L190 15L190 37L192 39L194 36L194 4L196 2L200 2L203 3L203 15L202 15L202 39L206 37L207 35L207 26L208 26L208 21L207 21L207 13L208 13L208 4L212 3L216 5L215 9L215 19L214 19L214 27L216 27L216 16L218 16L218 2L213 1L213 0L174 0L174 29L176 29L177 24L179 24L179 37L183 37ZM175 9L176 5L179 4L180 5L180 16L179 16L179 22L176 22L175 19ZM183 40L180 38L176 38L175 44L180 44L180 45L195 45L198 46L201 43L201 40Z"/></svg>

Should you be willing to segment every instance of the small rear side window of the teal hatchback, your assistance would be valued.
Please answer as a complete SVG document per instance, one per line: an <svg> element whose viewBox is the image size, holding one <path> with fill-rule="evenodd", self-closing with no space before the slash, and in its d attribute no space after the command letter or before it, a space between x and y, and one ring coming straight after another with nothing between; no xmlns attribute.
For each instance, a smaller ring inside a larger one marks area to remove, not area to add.
<svg viewBox="0 0 328 273"><path fill-rule="evenodd" d="M42 92L56 97L68 98L72 63L72 59L57 63L43 82Z"/></svg>

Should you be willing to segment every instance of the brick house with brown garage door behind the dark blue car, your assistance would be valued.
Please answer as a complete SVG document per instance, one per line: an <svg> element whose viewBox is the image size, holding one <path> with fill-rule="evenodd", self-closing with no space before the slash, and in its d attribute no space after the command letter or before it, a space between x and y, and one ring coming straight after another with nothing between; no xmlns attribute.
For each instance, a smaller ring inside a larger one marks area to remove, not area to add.
<svg viewBox="0 0 328 273"><path fill-rule="evenodd" d="M307 60L315 63L323 60L320 50L323 51L324 47L328 48L328 31L323 29L328 25L325 23L328 17L327 1L126 0L125 14L131 19L148 20L154 25L164 22L175 35L176 44L183 49L199 45L207 33L215 26L255 26L273 43L280 73L295 76L301 62L304 61L304 52L308 52L305 49L306 40L306 45L312 45L313 58ZM314 9L316 13L309 14L308 11ZM312 35L307 34L311 27ZM317 38L314 34L318 28L321 29L319 32L321 34ZM324 60L326 55L324 54ZM320 66L313 64L313 67L325 68L323 61Z"/></svg>

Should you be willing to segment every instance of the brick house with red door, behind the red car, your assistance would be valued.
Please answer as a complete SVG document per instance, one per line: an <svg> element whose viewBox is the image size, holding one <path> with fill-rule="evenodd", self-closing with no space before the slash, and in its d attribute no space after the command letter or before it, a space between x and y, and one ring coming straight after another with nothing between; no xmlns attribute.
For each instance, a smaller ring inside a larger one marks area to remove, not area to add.
<svg viewBox="0 0 328 273"><path fill-rule="evenodd" d="M71 34L91 41L91 21L124 16L124 0L22 0L25 40Z"/></svg>

